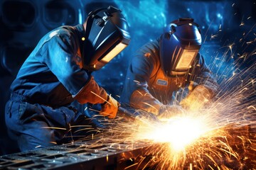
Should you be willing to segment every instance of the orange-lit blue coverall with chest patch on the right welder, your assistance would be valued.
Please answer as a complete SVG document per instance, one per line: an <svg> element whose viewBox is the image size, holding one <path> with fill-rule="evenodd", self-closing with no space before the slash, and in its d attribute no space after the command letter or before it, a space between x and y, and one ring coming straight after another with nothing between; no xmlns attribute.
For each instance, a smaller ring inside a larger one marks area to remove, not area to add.
<svg viewBox="0 0 256 170"><path fill-rule="evenodd" d="M132 58L121 95L124 107L132 106L157 115L163 104L169 105L174 100L181 100L187 93L178 96L176 92L191 83L194 87L205 86L212 94L218 92L218 84L200 54L196 56L187 74L167 77L159 57L160 38L146 43Z"/></svg>

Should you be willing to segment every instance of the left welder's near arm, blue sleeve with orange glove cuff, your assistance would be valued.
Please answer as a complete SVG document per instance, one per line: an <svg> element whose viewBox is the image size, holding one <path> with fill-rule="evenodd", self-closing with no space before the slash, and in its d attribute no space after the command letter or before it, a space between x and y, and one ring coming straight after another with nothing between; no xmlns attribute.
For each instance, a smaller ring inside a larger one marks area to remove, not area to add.
<svg viewBox="0 0 256 170"><path fill-rule="evenodd" d="M82 69L79 41L68 33L55 35L48 42L47 66L70 94L80 103L104 103L107 93Z"/></svg>

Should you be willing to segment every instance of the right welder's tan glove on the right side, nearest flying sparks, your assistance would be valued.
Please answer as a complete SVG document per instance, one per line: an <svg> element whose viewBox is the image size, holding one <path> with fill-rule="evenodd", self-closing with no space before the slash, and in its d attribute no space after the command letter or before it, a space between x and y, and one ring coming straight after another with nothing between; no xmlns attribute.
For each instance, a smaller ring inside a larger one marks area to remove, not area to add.
<svg viewBox="0 0 256 170"><path fill-rule="evenodd" d="M205 86L198 85L180 102L180 105L187 111L199 111L208 103L212 96Z"/></svg>

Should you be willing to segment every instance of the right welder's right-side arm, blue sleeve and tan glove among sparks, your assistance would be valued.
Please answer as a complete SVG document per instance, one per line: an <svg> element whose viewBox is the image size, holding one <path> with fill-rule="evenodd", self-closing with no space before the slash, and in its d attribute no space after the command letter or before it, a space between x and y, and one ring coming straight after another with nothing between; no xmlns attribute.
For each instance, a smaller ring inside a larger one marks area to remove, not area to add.
<svg viewBox="0 0 256 170"><path fill-rule="evenodd" d="M180 105L189 111L198 111L218 93L218 83L210 72L203 57L200 56L198 75L194 77L193 87L190 93L184 98Z"/></svg>

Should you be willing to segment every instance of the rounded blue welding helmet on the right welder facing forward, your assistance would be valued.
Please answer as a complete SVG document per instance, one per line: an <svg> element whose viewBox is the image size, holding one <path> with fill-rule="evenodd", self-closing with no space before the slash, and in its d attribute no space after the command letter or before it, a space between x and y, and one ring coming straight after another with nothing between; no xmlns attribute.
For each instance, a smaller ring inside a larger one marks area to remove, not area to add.
<svg viewBox="0 0 256 170"><path fill-rule="evenodd" d="M183 76L201 47L201 33L193 18L169 23L160 39L161 67L166 76Z"/></svg>

